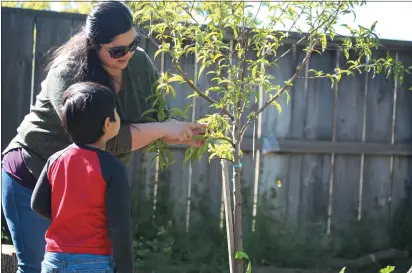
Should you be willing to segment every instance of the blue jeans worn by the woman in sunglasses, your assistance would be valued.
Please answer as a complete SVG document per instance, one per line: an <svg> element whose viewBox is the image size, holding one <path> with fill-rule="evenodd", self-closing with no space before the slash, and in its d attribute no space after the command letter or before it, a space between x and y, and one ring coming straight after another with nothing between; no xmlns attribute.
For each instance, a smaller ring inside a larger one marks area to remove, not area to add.
<svg viewBox="0 0 412 273"><path fill-rule="evenodd" d="M32 191L4 170L1 184L1 204L16 251L17 272L40 273L46 246L44 235L50 222L31 209Z"/></svg>

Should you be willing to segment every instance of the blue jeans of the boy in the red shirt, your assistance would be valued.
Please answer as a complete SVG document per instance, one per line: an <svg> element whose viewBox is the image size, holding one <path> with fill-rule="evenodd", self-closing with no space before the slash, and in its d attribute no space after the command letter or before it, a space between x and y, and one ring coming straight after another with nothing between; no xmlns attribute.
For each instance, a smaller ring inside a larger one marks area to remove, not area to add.
<svg viewBox="0 0 412 273"><path fill-rule="evenodd" d="M113 273L112 256L46 252L42 273ZM132 273L132 272L130 272Z"/></svg>

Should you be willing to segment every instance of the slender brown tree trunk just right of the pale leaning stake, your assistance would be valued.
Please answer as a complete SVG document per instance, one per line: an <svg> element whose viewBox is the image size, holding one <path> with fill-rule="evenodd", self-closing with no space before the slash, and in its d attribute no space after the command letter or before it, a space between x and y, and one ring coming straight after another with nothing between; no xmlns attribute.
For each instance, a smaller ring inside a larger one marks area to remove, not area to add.
<svg viewBox="0 0 412 273"><path fill-rule="evenodd" d="M240 161L240 120L237 119L233 126L233 136L235 143L235 156L233 165L233 215L234 215L234 247L235 254L238 251L243 251L243 234L242 234L242 194L240 187L240 173L242 169L242 163ZM235 260L234 266L235 273L243 273L243 261Z"/></svg>

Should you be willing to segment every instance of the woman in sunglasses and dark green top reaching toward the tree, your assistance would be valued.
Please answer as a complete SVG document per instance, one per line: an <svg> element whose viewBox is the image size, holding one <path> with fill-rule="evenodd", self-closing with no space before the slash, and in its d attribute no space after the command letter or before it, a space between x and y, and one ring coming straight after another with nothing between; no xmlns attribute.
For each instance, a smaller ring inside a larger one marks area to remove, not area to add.
<svg viewBox="0 0 412 273"><path fill-rule="evenodd" d="M49 222L31 210L30 198L48 157L71 144L59 118L62 94L70 85L90 81L114 90L122 125L106 149L126 164L132 151L158 139L169 144L201 144L190 139L200 133L203 124L142 122L142 113L151 108L147 98L159 74L137 47L139 37L132 23L130 10L120 2L94 6L83 30L55 51L35 106L3 152L2 205L18 272L40 272Z"/></svg>

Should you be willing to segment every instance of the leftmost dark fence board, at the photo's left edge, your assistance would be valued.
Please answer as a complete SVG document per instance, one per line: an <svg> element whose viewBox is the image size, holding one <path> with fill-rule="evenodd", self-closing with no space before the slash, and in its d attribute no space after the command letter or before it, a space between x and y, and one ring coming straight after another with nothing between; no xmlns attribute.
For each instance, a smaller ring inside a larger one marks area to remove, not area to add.
<svg viewBox="0 0 412 273"><path fill-rule="evenodd" d="M34 17L2 13L1 16L1 145L16 135L17 127L30 111L33 71Z"/></svg>

